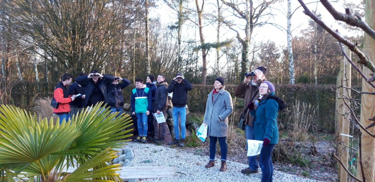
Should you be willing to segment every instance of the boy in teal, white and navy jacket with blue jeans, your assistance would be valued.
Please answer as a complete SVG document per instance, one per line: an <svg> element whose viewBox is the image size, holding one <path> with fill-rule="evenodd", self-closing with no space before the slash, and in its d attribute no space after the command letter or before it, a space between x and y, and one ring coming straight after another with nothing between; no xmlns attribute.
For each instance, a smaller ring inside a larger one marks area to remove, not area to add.
<svg viewBox="0 0 375 182"><path fill-rule="evenodd" d="M132 90L130 95L132 114L136 114L138 137L134 142L147 143L147 116L151 111L152 94L151 90L143 87L143 79L135 79L135 89Z"/></svg>

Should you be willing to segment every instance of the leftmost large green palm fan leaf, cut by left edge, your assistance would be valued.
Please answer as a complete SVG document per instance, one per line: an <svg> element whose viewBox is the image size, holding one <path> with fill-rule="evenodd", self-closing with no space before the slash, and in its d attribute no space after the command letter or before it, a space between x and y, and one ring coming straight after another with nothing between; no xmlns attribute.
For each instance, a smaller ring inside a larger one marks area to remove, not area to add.
<svg viewBox="0 0 375 182"><path fill-rule="evenodd" d="M13 106L1 105L0 118L3 126L0 130L0 166L16 167L36 162L53 152L65 150L79 136L79 131L69 125L53 125L52 120L48 124L47 119L38 123L36 116ZM3 118L8 118L7 123Z"/></svg>

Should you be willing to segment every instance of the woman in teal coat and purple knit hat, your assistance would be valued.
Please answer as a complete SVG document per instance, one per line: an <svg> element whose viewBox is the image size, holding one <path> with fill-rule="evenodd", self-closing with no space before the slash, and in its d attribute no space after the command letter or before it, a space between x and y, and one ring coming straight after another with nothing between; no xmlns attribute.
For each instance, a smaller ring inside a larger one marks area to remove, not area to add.
<svg viewBox="0 0 375 182"><path fill-rule="evenodd" d="M255 116L255 140L263 141L259 154L259 164L262 169L262 181L272 182L273 164L271 160L273 147L279 142L279 129L276 121L278 111L285 108L284 102L275 96L275 86L264 81L259 87L261 97L248 104L251 115ZM255 110L254 104L258 107Z"/></svg>

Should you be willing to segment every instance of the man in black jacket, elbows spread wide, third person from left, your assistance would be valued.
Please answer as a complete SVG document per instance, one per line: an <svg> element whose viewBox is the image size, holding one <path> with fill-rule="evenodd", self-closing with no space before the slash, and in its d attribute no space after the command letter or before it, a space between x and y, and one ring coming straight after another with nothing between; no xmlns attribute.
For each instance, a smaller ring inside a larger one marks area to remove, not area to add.
<svg viewBox="0 0 375 182"><path fill-rule="evenodd" d="M96 103L104 101L109 103L107 95L107 87L115 80L112 75L102 75L98 71L93 70L88 76L80 76L75 79L77 84L80 84L85 88L85 100L83 105L85 107L92 107ZM102 106L104 106L104 104Z"/></svg>

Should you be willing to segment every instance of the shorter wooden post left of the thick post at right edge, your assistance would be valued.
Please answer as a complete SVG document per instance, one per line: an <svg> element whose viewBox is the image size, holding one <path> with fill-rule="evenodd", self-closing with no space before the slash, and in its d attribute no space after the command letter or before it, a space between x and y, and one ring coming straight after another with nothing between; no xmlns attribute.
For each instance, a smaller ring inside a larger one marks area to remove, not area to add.
<svg viewBox="0 0 375 182"><path fill-rule="evenodd" d="M351 52L350 49L346 46L344 47L345 53L348 55L348 57L351 59ZM350 88L351 87L351 64L348 62L348 60L344 57L341 61L341 67L340 67L340 74L339 74L339 84L343 87ZM350 98L351 90L340 88L338 97L340 98ZM348 104L350 104L350 100L345 100ZM349 108L344 104L343 99L338 100L338 108L336 108L341 114L338 116L338 142L342 143L346 146L349 146L349 137L344 136L342 134L349 135L349 129L350 129L350 110ZM336 105L337 106L337 105ZM343 164L346 168L348 168L348 147L344 145L338 145L338 155L341 158ZM348 173L345 171L345 169L339 164L339 179L340 182L346 182L348 178Z"/></svg>

